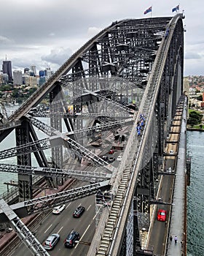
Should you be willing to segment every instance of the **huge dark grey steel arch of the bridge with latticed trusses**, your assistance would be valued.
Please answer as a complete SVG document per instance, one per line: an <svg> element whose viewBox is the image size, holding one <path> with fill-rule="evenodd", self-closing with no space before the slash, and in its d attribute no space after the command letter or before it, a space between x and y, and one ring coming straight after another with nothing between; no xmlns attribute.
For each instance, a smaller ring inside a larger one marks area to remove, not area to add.
<svg viewBox="0 0 204 256"><path fill-rule="evenodd" d="M100 218L89 255L133 255L141 244L141 227L149 227L149 202L157 192L165 138L183 91L183 18L177 14L113 22L77 50L12 116L2 118L1 141L15 130L16 146L0 151L0 159L16 157L17 165L1 165L0 170L18 173L22 203L10 206L14 219L9 221L18 227L19 236L28 230L18 217L43 211L43 201L52 201L52 207L55 197L56 203L74 200L66 193L40 198L40 203L32 199L33 175L45 176L50 187L65 177L94 179L98 182L74 194L96 194ZM45 99L47 105L42 105ZM38 117L48 118L49 124ZM47 137L39 139L36 128ZM122 149L117 165L101 157L105 149L117 147L115 140ZM44 154L47 148L52 163ZM72 163L76 160L78 167L85 167L84 173L66 161L63 148ZM32 154L39 167L32 167ZM98 194L103 187L110 195L106 208L101 207L103 193ZM26 208L21 215L20 208ZM0 214L5 221L2 208ZM47 255L42 247L32 246L36 243L33 238L27 245L33 253Z"/></svg>

